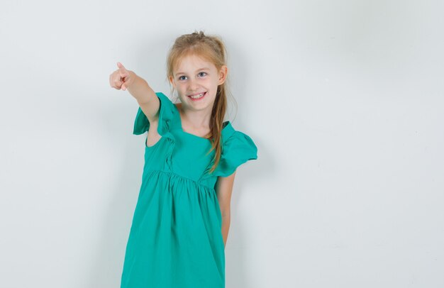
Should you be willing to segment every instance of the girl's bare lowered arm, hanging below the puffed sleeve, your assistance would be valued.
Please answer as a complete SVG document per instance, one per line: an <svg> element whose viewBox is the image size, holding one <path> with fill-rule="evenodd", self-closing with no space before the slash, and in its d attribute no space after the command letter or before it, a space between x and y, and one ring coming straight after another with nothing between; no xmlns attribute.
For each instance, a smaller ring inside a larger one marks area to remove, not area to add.
<svg viewBox="0 0 444 288"><path fill-rule="evenodd" d="M228 177L218 177L216 182L216 194L222 214L222 236L224 247L226 246L228 230L230 229L230 204L235 174L236 172L233 172L233 174Z"/></svg>

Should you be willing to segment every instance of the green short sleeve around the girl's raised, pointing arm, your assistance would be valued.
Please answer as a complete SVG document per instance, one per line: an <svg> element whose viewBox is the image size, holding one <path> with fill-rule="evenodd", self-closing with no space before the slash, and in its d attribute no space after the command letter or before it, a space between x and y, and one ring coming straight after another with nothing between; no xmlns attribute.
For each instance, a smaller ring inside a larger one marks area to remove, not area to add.
<svg viewBox="0 0 444 288"><path fill-rule="evenodd" d="M174 107L172 101L162 92L156 92L156 96L160 101L159 124L157 126L157 131L160 135L164 135L165 133L167 133L167 131L170 131L172 121L174 120L174 109L176 109L176 107ZM145 133L149 129L150 122L139 106L134 120L133 134L140 135Z"/></svg>

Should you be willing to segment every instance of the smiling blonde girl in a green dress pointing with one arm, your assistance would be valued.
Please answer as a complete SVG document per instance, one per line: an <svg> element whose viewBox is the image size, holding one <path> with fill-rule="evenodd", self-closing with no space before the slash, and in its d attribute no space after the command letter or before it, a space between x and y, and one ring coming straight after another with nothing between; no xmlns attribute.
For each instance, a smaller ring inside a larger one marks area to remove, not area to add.
<svg viewBox="0 0 444 288"><path fill-rule="evenodd" d="M257 159L226 113L225 47L203 32L176 39L167 77L173 104L117 63L111 87L138 101L133 134L148 131L121 287L225 287L225 245L236 168Z"/></svg>

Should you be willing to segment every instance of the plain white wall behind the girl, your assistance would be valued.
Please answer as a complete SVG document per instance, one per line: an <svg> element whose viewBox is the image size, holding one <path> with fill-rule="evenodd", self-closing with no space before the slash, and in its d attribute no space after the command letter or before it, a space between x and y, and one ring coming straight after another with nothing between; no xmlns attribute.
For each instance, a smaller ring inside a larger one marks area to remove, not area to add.
<svg viewBox="0 0 444 288"><path fill-rule="evenodd" d="M228 48L226 287L444 287L442 1L2 1L0 286L118 287L143 170L122 62ZM234 106L233 106L234 107Z"/></svg>

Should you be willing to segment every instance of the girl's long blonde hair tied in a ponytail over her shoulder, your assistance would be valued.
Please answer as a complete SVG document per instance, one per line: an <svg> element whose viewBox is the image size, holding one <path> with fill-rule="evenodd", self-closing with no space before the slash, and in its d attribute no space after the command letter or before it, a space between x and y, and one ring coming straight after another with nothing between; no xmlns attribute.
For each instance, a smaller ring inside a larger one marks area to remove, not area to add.
<svg viewBox="0 0 444 288"><path fill-rule="evenodd" d="M226 48L222 40L215 35L204 35L202 31L194 31L191 34L179 36L174 45L170 49L167 57L167 79L174 77L173 71L179 62L188 55L197 55L204 60L213 63L219 71L223 65L226 65ZM170 82L169 82L170 83ZM171 83L170 83L171 85ZM174 94L174 87L171 87ZM219 85L216 92L216 99L211 111L209 140L211 141L211 149L215 150L214 164L211 167L212 173L221 159L222 154L222 124L223 117L227 109L227 87L226 82ZM208 155L207 153L207 155Z"/></svg>

